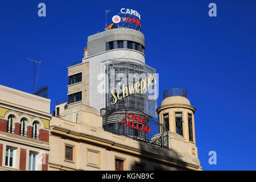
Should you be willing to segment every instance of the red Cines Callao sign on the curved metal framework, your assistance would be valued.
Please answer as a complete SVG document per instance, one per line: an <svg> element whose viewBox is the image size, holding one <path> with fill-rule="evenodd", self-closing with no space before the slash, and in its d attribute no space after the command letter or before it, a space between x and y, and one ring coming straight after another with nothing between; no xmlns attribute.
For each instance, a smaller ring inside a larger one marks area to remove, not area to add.
<svg viewBox="0 0 256 182"><path fill-rule="evenodd" d="M139 131L144 131L146 133L150 133L151 129L149 126L145 126L145 118L141 117L139 115L127 113L127 118L122 118L121 123L123 126L128 126L131 129L139 130Z"/></svg>

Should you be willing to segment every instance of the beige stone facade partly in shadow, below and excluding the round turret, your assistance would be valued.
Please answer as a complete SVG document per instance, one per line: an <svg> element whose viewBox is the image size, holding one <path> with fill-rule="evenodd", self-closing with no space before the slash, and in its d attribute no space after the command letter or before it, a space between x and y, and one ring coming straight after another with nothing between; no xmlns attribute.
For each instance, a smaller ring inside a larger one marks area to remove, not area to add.
<svg viewBox="0 0 256 182"><path fill-rule="evenodd" d="M74 107L66 119L52 117L49 170L114 171L117 159L123 162L123 170L138 170L138 166L143 170L202 170L197 155L188 154L187 146L180 147L180 140L185 141L179 136L170 135L169 143L172 146L177 141L179 148L152 146L104 131L102 117L93 107ZM81 117L74 122L71 115L77 113ZM72 160L65 159L65 146L73 148Z"/></svg>

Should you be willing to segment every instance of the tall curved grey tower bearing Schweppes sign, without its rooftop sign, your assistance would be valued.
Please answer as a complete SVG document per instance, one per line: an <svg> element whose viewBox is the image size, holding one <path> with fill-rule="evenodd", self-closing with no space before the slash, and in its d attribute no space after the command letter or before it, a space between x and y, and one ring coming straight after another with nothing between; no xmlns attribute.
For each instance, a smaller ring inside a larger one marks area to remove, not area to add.
<svg viewBox="0 0 256 182"><path fill-rule="evenodd" d="M147 138L148 119L157 117L156 98L148 90L152 93L157 86L155 69L145 64L144 35L113 28L89 36L87 45L84 59L68 67L66 108L91 106L101 111L104 129ZM79 116L73 119L79 121Z"/></svg>

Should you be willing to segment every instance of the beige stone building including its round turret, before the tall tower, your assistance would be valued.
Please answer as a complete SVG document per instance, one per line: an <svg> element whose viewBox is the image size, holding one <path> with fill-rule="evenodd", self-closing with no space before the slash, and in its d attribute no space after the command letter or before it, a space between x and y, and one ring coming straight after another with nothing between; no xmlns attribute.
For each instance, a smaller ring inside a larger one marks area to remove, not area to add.
<svg viewBox="0 0 256 182"><path fill-rule="evenodd" d="M195 145L195 107L186 97L168 96L157 111L160 123L168 121L168 148L105 131L96 109L81 102L69 106L51 120L49 170L203 170ZM177 117L182 117L182 135Z"/></svg>

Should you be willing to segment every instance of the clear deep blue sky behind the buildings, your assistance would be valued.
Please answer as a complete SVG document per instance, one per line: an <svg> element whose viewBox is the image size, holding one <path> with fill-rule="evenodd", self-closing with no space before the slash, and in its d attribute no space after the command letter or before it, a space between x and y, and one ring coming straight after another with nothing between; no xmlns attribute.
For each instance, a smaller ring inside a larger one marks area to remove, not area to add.
<svg viewBox="0 0 256 182"><path fill-rule="evenodd" d="M46 4L46 17L38 4ZM216 3L217 17L208 16ZM51 111L67 96L67 67L83 57L89 35L104 31L122 7L141 14L146 64L163 91L183 88L196 107L195 130L205 170L255 170L256 1L0 1L0 84L32 93L49 87ZM36 68L38 64L36 64ZM209 151L217 164L209 165Z"/></svg>

